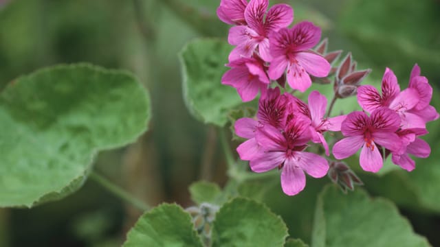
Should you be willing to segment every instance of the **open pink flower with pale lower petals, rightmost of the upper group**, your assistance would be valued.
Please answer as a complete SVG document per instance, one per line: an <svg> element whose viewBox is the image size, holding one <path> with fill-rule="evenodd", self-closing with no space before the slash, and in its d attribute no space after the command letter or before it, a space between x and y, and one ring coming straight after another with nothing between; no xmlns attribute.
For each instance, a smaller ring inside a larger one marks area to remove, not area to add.
<svg viewBox="0 0 440 247"><path fill-rule="evenodd" d="M287 82L292 89L305 92L311 86L309 74L318 78L327 76L331 65L311 50L320 37L320 28L308 21L273 33L270 36L270 79L281 78L287 69Z"/></svg>

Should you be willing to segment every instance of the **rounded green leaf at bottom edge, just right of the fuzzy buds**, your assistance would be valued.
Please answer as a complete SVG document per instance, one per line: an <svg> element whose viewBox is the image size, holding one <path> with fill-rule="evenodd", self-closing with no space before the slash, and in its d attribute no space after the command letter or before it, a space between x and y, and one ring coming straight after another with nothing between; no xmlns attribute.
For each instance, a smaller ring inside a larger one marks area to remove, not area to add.
<svg viewBox="0 0 440 247"><path fill-rule="evenodd" d="M212 246L283 246L287 227L264 204L234 198L217 212Z"/></svg>

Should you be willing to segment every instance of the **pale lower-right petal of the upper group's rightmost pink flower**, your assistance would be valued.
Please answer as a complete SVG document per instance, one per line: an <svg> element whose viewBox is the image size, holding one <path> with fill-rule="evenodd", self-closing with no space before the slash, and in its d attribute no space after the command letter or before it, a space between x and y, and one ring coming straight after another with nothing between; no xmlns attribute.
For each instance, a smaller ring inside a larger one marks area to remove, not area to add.
<svg viewBox="0 0 440 247"><path fill-rule="evenodd" d="M318 78L329 75L331 65L322 56L311 52L298 52L295 58L307 73Z"/></svg>

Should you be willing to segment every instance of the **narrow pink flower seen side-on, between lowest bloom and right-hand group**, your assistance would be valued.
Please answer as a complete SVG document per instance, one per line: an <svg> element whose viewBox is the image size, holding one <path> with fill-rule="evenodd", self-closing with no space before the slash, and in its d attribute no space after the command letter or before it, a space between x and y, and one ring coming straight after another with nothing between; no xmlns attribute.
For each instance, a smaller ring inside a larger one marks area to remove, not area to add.
<svg viewBox="0 0 440 247"><path fill-rule="evenodd" d="M338 117L325 117L327 108L327 98L318 91L313 91L309 94L309 105L305 104L298 98L296 101L296 110L305 115L311 120L311 137L314 143L322 143L325 149L325 154L329 156L329 145L324 139L323 132L340 131L342 121L347 117L346 115Z"/></svg>

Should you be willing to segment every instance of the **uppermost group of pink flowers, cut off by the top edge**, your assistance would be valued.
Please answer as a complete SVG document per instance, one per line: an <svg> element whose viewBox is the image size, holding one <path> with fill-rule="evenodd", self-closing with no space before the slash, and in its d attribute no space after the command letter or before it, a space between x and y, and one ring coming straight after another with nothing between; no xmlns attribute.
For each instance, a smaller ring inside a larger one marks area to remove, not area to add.
<svg viewBox="0 0 440 247"><path fill-rule="evenodd" d="M294 10L286 4L273 5L268 0L221 0L217 15L234 25L228 42L236 46L229 55L227 71L221 82L233 86L244 102L264 95L270 80L278 80L287 71L287 83L301 92L311 86L310 75L320 78L331 66L312 51L321 30L308 21L288 26Z"/></svg>

